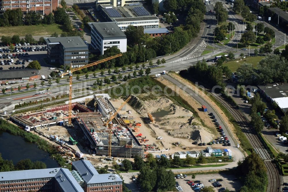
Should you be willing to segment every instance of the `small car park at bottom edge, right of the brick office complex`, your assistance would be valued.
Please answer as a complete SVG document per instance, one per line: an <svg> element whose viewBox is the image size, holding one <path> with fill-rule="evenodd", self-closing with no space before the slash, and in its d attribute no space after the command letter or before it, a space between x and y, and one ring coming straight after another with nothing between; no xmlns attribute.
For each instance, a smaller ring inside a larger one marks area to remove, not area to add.
<svg viewBox="0 0 288 192"><path fill-rule="evenodd" d="M236 177L233 175L226 175L226 174L209 174L209 175L196 175L195 179L192 179L191 176L187 176L187 178L184 179L176 179L176 181L179 183L179 185L182 187L183 191L192 191L191 186L187 184L187 181L196 181L200 180L201 183L206 186L213 186L212 182L209 182L210 179L223 179L223 181L220 181L222 187L228 188L230 191L238 191L240 187L242 186L240 183L240 180L235 180ZM216 187L214 188L215 191L222 187Z"/></svg>

